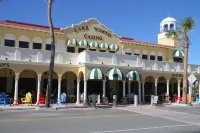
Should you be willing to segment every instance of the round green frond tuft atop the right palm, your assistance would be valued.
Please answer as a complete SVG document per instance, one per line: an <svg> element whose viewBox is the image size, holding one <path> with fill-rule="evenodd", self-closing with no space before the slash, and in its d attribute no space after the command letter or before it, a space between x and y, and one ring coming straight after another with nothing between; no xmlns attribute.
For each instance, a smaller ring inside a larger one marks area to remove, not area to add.
<svg viewBox="0 0 200 133"><path fill-rule="evenodd" d="M188 32L193 30L195 21L192 17L185 18L181 23L181 32L183 34L187 34Z"/></svg>

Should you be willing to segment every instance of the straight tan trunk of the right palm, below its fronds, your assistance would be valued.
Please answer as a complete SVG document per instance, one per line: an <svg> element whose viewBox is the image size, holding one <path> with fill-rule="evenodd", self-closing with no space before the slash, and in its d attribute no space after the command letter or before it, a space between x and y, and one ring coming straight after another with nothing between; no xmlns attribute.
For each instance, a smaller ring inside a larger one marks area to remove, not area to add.
<svg viewBox="0 0 200 133"><path fill-rule="evenodd" d="M188 82L188 49L189 38L187 34L184 35L184 74L183 74L183 103L187 103L187 82Z"/></svg>

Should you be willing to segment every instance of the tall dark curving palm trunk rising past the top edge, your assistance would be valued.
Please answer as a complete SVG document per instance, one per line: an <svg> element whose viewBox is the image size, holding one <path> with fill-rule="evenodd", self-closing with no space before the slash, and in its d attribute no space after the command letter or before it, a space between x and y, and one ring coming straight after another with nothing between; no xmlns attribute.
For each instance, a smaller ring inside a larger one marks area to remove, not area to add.
<svg viewBox="0 0 200 133"><path fill-rule="evenodd" d="M45 107L50 107L50 94L52 89L52 78L53 78L53 70L54 70L54 58L55 58L55 38L54 38L54 29L53 29L53 22L51 17L51 10L52 10L52 3L53 0L47 0L48 4L48 22L50 28L50 38L51 38L51 60L49 66L49 76L48 76L48 84L46 90L46 98L45 98Z"/></svg>

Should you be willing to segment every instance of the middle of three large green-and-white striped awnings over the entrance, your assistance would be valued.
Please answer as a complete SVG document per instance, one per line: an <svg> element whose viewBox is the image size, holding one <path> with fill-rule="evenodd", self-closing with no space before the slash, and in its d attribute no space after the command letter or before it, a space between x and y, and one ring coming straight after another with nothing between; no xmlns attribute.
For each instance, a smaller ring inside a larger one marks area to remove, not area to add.
<svg viewBox="0 0 200 133"><path fill-rule="evenodd" d="M124 80L124 74L118 68L112 68L106 73L108 80Z"/></svg>

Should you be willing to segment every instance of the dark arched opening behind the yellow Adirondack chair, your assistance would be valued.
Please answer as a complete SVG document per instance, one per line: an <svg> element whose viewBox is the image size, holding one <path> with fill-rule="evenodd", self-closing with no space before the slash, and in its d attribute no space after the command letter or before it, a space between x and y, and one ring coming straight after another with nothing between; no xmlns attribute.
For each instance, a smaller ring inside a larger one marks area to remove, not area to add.
<svg viewBox="0 0 200 133"><path fill-rule="evenodd" d="M26 93L30 92L33 94L33 103L36 102L37 98L37 73L33 70L26 69L19 74L18 83L18 97L21 99L25 97Z"/></svg>

